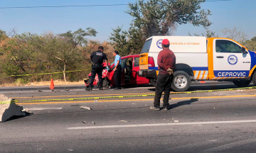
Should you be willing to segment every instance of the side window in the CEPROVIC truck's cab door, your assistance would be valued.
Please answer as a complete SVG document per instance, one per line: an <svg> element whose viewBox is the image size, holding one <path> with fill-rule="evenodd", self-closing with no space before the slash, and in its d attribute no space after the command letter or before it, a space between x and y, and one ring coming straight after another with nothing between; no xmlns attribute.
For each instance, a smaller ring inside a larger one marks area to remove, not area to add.
<svg viewBox="0 0 256 153"><path fill-rule="evenodd" d="M240 47L240 45L237 45L235 42L232 42L230 40L216 40L215 48L216 52L242 52L242 47Z"/></svg>

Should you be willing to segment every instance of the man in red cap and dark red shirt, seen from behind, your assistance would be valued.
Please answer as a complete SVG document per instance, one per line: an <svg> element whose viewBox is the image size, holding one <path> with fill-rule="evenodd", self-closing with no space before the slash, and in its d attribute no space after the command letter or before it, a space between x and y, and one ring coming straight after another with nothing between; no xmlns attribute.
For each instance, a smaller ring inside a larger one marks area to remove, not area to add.
<svg viewBox="0 0 256 153"><path fill-rule="evenodd" d="M161 52L157 57L157 64L159 66L159 74L156 81L156 93L154 97L154 106L151 110L160 110L160 98L164 91L164 111L169 109L169 96L171 91L171 83L174 79L174 69L176 65L176 57L174 52L169 50L170 42L167 39L162 41Z"/></svg>

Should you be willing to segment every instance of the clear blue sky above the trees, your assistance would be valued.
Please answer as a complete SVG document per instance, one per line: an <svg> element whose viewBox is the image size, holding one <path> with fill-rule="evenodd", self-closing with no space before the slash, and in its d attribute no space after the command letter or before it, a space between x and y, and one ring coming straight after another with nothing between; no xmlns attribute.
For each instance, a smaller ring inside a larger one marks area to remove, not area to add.
<svg viewBox="0 0 256 153"><path fill-rule="evenodd" d="M75 6L100 4L128 4L136 0L0 0L0 29L8 32L16 28L18 33L38 33L46 31L65 33L78 28L95 28L98 41L108 41L112 28L123 26L129 28L133 18L125 13L128 6L95 6L70 8L8 8L14 6ZM256 0L208 1L202 4L203 9L209 9L212 15L208 17L213 23L210 30L220 37L224 28L238 28L248 39L256 36ZM189 33L205 33L202 26L191 24L180 25L176 35Z"/></svg>

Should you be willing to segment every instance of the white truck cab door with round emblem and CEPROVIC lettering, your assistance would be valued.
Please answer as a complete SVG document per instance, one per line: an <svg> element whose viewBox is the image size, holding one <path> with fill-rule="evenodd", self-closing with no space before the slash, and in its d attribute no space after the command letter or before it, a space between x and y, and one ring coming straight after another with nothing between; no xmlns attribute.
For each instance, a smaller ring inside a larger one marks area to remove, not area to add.
<svg viewBox="0 0 256 153"><path fill-rule="evenodd" d="M213 41L213 79L238 79L249 76L250 54L242 46L226 39Z"/></svg>

